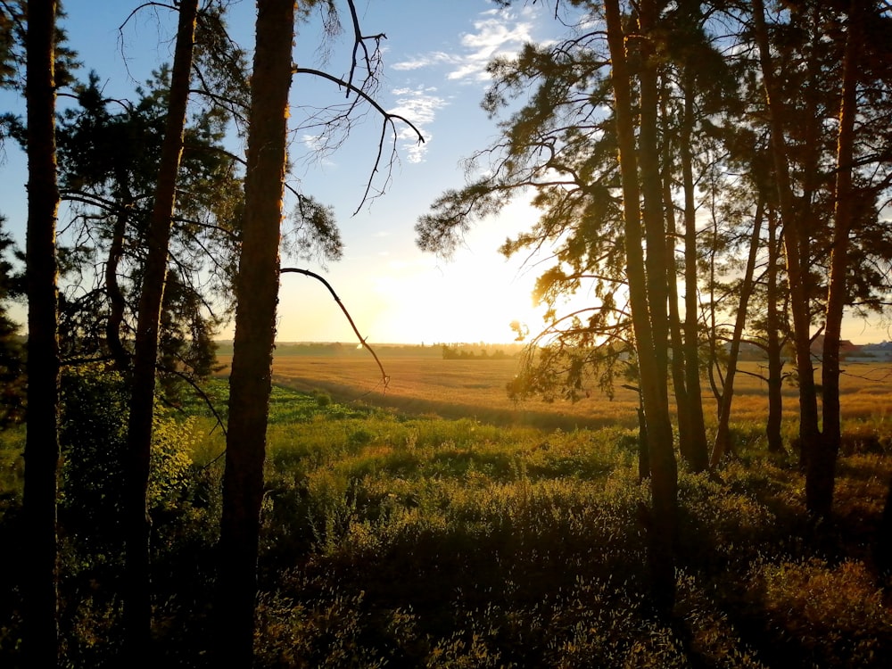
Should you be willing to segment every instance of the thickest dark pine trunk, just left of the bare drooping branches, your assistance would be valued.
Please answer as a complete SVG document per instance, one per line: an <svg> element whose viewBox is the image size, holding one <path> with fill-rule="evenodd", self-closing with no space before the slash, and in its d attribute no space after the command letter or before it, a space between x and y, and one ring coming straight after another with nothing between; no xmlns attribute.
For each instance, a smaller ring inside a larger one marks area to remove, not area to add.
<svg viewBox="0 0 892 669"><path fill-rule="evenodd" d="M293 0L258 3L216 611L219 658L235 667L253 654L293 25Z"/></svg>

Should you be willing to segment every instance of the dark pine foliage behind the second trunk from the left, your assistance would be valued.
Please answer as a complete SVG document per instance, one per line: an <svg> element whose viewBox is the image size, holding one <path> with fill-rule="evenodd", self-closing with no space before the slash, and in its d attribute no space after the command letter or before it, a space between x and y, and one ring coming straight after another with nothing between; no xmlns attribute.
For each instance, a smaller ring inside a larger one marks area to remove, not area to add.
<svg viewBox="0 0 892 669"><path fill-rule="evenodd" d="M76 88L78 105L60 121L60 184L71 211L61 242L65 358L111 357L121 371L131 367L169 79L162 66L137 89L135 101L122 102L104 99L91 73ZM186 344L188 335L213 332L231 304L243 203L240 163L223 150L228 112L195 106L185 128L169 244L168 276L178 282L180 306L167 309L165 298L161 328L162 354L177 366L161 369L162 381L174 369L201 378L201 360L212 351L202 351L197 339ZM184 309L187 304L195 309Z"/></svg>

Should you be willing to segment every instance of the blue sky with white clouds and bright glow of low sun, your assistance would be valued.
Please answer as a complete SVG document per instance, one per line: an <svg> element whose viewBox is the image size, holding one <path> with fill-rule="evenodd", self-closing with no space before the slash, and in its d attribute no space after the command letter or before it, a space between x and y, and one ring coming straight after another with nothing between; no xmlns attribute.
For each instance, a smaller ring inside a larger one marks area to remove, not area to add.
<svg viewBox="0 0 892 669"><path fill-rule="evenodd" d="M295 37L294 62L299 66L335 76L346 72L350 21L346 3L338 4L344 12L343 37L322 47L321 21L314 15ZM154 68L172 60L173 12L149 8L129 16L137 5L64 3L62 25L83 63L81 77L96 70L109 97L132 97ZM315 151L318 139L310 132L293 129L289 179L301 192L334 207L344 254L327 266L287 259L283 264L326 277L369 343L505 343L514 339L513 320L537 332L543 324L541 309L533 308L531 298L535 259L524 265L498 252L508 236L532 226L536 211L517 202L498 219L482 221L450 260L419 251L413 228L439 194L465 184L464 161L497 136L495 122L480 107L489 83L487 62L516 54L525 42L560 35L553 8L522 0L509 10L489 0L357 0L356 6L365 34L386 35L377 101L411 120L425 142L419 145L408 128L401 128L399 160L386 192L360 207L380 121L369 114L336 152L324 155ZM251 0L230 7L231 35L249 52L254 16ZM14 107L9 94L3 95L4 106ZM301 108L340 101L343 92L332 84L309 75L293 78L295 123ZM241 145L233 148L244 151ZM0 202L10 231L22 239L26 163L10 144L4 153ZM356 341L331 295L311 278L282 277L278 314L280 342ZM231 335L231 327L221 333L222 338ZM892 338L886 329L860 321L849 321L844 336L855 343Z"/></svg>

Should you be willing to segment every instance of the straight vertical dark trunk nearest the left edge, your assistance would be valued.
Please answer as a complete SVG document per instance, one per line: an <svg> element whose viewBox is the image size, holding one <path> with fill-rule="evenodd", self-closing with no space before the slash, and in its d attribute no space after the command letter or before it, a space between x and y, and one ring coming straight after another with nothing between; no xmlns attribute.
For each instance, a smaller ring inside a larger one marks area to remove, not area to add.
<svg viewBox="0 0 892 669"><path fill-rule="evenodd" d="M25 441L24 566L26 664L54 667L58 652L56 467L59 461L59 343L55 224L55 16L53 0L29 3L26 33L28 103L28 434ZM5 550L13 550L6 546Z"/></svg>

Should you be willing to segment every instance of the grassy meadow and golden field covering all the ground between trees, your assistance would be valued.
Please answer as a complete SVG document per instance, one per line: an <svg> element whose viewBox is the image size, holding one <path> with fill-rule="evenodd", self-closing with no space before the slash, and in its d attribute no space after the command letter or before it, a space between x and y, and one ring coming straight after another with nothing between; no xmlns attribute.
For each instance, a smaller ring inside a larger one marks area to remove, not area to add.
<svg viewBox="0 0 892 669"><path fill-rule="evenodd" d="M847 376L847 432L872 438L841 458L835 516L817 526L796 454L766 452L759 386L741 377L737 457L711 475L681 470L679 595L660 621L632 393L516 406L504 394L516 359L378 352L385 391L365 355L277 356L258 667L892 665L892 583L873 560L892 446L888 368ZM225 380L208 391L225 408ZM225 441L200 403L181 409L162 411L153 474L154 637L159 665L206 666ZM5 546L24 531L17 438L0 442ZM108 508L115 491L84 490L75 456L104 451L75 448L60 511L65 656L114 666L120 554L78 521L95 493ZM0 555L0 665L14 666L14 551Z"/></svg>

